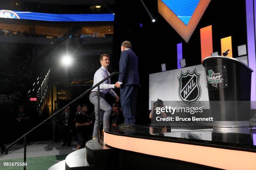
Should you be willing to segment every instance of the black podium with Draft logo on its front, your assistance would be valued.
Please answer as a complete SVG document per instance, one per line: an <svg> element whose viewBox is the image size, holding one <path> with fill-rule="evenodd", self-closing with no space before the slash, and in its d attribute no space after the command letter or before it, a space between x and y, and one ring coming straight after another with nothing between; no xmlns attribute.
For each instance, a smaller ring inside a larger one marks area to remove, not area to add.
<svg viewBox="0 0 256 170"><path fill-rule="evenodd" d="M236 58L206 57L205 67L213 127L248 127L251 111L251 73Z"/></svg>

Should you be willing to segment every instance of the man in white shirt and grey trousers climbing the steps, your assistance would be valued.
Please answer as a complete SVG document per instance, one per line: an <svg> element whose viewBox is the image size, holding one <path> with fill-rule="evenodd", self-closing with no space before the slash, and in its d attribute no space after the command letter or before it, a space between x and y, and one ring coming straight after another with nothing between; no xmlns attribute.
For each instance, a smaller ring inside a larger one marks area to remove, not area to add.
<svg viewBox="0 0 256 170"><path fill-rule="evenodd" d="M109 58L110 57L108 54L100 55L101 67L94 74L93 86L110 75L110 73L108 72L108 66L110 64ZM115 94L114 90L112 89L115 87L116 87L115 84L110 83L110 78L100 84L100 125L102 124L102 117L103 117L103 129L109 128L109 118L110 118L111 111L112 111L112 107L105 100L105 94L107 92L109 92L111 95L113 95L113 97L115 97L115 101L118 102L119 97L118 97L118 95ZM92 104L94 104L94 110L95 110L95 124L94 124L94 128L93 128L92 138L98 138L98 135L97 135L97 129L98 129L97 87L95 87L91 91L89 99L90 99L90 102L92 102Z"/></svg>

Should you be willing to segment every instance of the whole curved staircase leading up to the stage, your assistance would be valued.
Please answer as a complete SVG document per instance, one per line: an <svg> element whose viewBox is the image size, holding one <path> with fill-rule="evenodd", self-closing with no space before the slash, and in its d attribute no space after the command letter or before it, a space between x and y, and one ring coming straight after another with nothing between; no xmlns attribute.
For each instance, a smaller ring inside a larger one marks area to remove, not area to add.
<svg viewBox="0 0 256 170"><path fill-rule="evenodd" d="M119 152L107 146L101 140L90 140L86 148L67 155L66 159L56 163L48 170L110 170L119 169Z"/></svg>

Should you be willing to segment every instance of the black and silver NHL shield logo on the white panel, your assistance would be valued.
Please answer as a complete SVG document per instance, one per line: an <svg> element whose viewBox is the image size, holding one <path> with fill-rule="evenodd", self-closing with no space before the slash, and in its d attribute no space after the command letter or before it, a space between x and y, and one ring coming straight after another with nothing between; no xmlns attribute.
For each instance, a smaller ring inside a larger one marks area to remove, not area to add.
<svg viewBox="0 0 256 170"><path fill-rule="evenodd" d="M181 72L178 77L179 80L179 98L186 104L193 104L201 97L201 87L199 83L200 74L197 70L186 73Z"/></svg>

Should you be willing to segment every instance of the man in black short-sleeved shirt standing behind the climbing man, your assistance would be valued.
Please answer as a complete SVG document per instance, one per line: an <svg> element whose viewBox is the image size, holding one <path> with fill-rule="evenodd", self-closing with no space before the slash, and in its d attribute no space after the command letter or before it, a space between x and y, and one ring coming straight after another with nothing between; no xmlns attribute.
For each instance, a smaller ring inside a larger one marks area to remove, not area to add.
<svg viewBox="0 0 256 170"><path fill-rule="evenodd" d="M87 113L87 105L82 105L82 112L80 112L76 118L76 127L77 127L77 149L84 148L85 143L88 140L91 140L91 129L92 129L92 120L90 115Z"/></svg>

